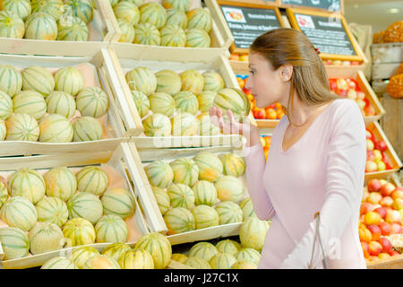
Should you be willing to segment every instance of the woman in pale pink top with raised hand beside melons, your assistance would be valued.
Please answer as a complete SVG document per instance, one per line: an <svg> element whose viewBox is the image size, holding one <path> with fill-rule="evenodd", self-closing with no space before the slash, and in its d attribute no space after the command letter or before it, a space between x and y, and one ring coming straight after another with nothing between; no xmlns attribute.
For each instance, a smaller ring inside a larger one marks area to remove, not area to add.
<svg viewBox="0 0 403 287"><path fill-rule="evenodd" d="M225 121L215 108L210 118L225 133L246 138L253 208L261 220L272 220L258 267L365 268L358 219L366 143L356 103L331 93L321 57L300 31L270 30L255 39L249 67L246 88L256 107L287 107L267 162L255 126L236 122L230 111Z"/></svg>

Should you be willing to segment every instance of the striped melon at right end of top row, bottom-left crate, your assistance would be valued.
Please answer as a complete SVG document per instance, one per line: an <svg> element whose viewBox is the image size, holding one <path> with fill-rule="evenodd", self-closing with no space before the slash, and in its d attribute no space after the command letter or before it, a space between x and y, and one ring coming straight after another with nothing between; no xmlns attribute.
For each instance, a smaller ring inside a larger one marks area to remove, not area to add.
<svg viewBox="0 0 403 287"><path fill-rule="evenodd" d="M97 166L87 166L76 174L77 189L101 196L107 190L107 173Z"/></svg>

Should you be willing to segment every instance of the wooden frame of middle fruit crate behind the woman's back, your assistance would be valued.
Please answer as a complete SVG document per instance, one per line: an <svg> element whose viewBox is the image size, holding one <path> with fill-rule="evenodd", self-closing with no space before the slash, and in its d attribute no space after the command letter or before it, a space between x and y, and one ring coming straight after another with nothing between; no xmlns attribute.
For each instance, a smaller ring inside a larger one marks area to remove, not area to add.
<svg viewBox="0 0 403 287"><path fill-rule="evenodd" d="M366 172L365 173L365 180L370 179L370 178L381 178L383 176L388 176L391 175L395 172L398 172L400 168L402 167L402 163L396 154L395 150L393 149L392 145L390 144L390 141L386 137L386 135L383 133L381 126L378 124L377 121L374 121L373 123L366 125L366 127L373 132L373 135L377 140L382 140L386 143L388 149L383 152L385 154L385 158L390 162L390 166L392 167L391 170L383 170L383 171L375 171L375 172Z"/></svg>

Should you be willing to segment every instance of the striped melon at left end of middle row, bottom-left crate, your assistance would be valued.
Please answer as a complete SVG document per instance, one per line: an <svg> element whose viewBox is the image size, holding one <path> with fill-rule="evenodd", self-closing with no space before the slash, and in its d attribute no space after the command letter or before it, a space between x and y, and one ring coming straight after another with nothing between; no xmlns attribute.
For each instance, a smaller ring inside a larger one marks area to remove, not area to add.
<svg viewBox="0 0 403 287"><path fill-rule="evenodd" d="M28 199L21 196L10 197L0 210L0 218L11 227L28 231L38 221L38 213Z"/></svg>

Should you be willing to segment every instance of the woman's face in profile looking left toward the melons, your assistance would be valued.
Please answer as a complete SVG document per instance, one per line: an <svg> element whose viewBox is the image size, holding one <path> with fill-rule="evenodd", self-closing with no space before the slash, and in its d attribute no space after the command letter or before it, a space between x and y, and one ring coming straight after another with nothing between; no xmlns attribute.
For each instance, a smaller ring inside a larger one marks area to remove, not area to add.
<svg viewBox="0 0 403 287"><path fill-rule="evenodd" d="M291 65L280 66L274 71L272 65L260 54L249 54L249 78L245 88L251 90L256 107L266 108L276 102L287 106Z"/></svg>

